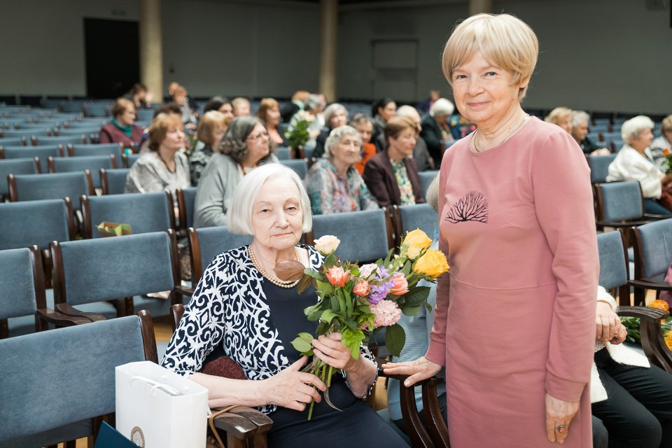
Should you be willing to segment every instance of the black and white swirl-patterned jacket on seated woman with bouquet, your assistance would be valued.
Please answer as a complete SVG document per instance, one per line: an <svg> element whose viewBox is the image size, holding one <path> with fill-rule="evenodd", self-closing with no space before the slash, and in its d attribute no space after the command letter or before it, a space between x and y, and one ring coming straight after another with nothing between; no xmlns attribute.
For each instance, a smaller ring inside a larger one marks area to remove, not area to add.
<svg viewBox="0 0 672 448"><path fill-rule="evenodd" d="M311 269L318 269L324 261L322 255L311 246L304 247ZM185 307L161 364L189 376L201 370L217 344L223 344L226 355L242 367L248 379L267 379L289 367L279 332L269 318L262 279L247 246L216 256ZM360 353L375 363L365 346ZM276 406L259 409L268 414Z"/></svg>

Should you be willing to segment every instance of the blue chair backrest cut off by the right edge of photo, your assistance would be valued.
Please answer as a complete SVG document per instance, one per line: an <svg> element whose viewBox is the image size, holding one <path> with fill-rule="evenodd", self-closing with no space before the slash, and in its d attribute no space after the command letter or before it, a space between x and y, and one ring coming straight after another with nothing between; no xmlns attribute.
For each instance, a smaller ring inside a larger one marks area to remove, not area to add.
<svg viewBox="0 0 672 448"><path fill-rule="evenodd" d="M635 279L663 281L672 262L672 219L633 228Z"/></svg>

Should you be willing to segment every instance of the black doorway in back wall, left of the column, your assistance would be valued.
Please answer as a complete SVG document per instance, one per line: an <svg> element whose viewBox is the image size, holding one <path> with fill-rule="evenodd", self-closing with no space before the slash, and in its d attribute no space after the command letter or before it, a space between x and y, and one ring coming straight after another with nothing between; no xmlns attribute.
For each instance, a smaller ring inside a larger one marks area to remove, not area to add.
<svg viewBox="0 0 672 448"><path fill-rule="evenodd" d="M84 19L86 93L118 98L140 80L138 22Z"/></svg>

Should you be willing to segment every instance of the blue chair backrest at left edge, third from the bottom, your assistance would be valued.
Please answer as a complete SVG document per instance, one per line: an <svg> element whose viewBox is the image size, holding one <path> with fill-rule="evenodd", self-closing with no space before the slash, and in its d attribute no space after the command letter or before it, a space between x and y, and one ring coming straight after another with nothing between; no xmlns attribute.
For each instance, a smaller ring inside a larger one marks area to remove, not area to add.
<svg viewBox="0 0 672 448"><path fill-rule="evenodd" d="M0 203L0 250L33 245L46 249L50 241L69 241L75 233L70 200Z"/></svg>

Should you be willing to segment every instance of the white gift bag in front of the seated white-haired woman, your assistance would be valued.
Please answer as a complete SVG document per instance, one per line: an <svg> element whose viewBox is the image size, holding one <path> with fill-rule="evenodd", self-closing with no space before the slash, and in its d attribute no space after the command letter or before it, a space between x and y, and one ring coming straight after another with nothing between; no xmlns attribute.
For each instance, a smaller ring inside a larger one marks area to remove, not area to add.
<svg viewBox="0 0 672 448"><path fill-rule="evenodd" d="M119 365L116 429L139 447L203 448L208 390L151 361Z"/></svg>

